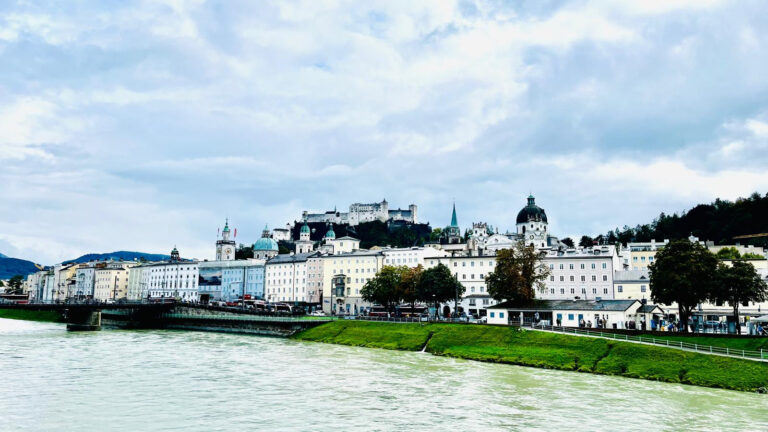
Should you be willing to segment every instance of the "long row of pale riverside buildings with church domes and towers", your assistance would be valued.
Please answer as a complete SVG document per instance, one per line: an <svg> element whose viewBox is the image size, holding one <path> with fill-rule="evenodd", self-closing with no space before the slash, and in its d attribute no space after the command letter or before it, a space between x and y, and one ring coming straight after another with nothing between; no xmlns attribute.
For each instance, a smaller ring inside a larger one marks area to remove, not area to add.
<svg viewBox="0 0 768 432"><path fill-rule="evenodd" d="M363 211L361 209L368 207L354 208ZM377 217L383 217L383 206L365 211L369 210ZM535 247L543 256L549 276L544 281L544 289L536 293L542 300L638 300L645 303L650 300L648 265L668 243L654 241L631 243L621 248L613 245L569 248L550 233L547 214L536 205L533 196L528 197L526 205L518 212L516 229L512 233L499 233L498 229L479 222L472 224L465 237L459 228L454 205L451 223L443 229L441 238L424 247L376 246L364 250L358 239L337 238L330 223L322 240L315 242L310 239L306 219L299 235L293 239L294 251L289 254L278 253L274 231L265 227L261 238L252 245L253 257L236 260L235 242L230 237L227 221L216 241L215 261L184 260L174 248L168 261L56 265L30 275L25 285L32 297L42 301L74 297L100 301L174 298L190 302L228 302L250 298L301 303L325 312L356 314L372 306L363 300L360 291L383 266L431 268L444 264L465 287L459 310L484 316L487 309L496 304L488 294L486 284L486 278L495 268L496 253L517 242ZM286 229L286 232L290 235L291 230ZM750 249L750 252L756 251ZM768 278L768 261L753 264L762 277ZM453 302L446 306L453 312ZM727 309L727 305L704 306L711 306L712 310ZM747 309L764 310L763 307L749 305ZM664 308L672 312L676 306Z"/></svg>

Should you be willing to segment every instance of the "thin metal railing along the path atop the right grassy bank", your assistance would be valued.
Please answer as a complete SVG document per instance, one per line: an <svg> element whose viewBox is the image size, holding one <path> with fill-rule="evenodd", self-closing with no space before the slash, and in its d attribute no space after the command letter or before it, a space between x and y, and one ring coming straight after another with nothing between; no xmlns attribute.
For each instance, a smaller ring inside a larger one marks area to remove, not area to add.
<svg viewBox="0 0 768 432"><path fill-rule="evenodd" d="M666 348L676 348L686 351L694 351L703 354L718 354L728 357L741 357L748 360L768 361L768 351L765 349L760 350L745 350L729 347L719 347L713 345L705 345L691 342L683 342L676 340L669 340L664 338L656 338L650 336L634 336L628 334L619 334L612 332L602 332L599 330L587 330L576 327L555 327L547 325L532 325L534 329L541 329L546 331L552 331L557 333L570 333L583 336L592 336L605 339L613 339L626 342L640 342L644 344L657 345Z"/></svg>

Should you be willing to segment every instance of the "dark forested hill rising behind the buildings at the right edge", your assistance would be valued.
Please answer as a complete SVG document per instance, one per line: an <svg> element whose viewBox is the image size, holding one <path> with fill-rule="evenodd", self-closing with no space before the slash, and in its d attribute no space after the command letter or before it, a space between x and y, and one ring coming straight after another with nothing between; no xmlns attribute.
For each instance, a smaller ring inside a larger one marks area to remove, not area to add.
<svg viewBox="0 0 768 432"><path fill-rule="evenodd" d="M699 204L681 214L661 213L653 222L634 228L616 228L595 238L608 244L644 242L655 239L681 239L690 235L715 244L733 244L733 237L745 234L768 233L768 194L754 193L736 201L717 199L710 204ZM741 244L768 246L768 237L738 240Z"/></svg>

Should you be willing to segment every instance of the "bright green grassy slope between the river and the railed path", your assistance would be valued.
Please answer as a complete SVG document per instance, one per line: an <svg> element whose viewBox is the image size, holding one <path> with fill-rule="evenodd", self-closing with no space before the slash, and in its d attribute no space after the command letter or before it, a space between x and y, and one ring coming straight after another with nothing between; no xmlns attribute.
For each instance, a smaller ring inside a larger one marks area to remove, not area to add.
<svg viewBox="0 0 768 432"><path fill-rule="evenodd" d="M768 363L512 327L336 321L295 339L732 390L768 387Z"/></svg>

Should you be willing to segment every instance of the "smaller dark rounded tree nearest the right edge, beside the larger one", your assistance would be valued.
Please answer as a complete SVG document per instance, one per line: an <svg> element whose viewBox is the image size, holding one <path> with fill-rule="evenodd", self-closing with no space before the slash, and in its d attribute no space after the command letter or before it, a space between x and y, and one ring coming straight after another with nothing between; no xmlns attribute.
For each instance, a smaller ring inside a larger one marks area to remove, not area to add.
<svg viewBox="0 0 768 432"><path fill-rule="evenodd" d="M741 326L738 324L739 305L765 301L768 298L768 286L755 267L742 259L733 261L730 266L720 263L717 273L712 299L717 303L727 302L733 307L736 331L741 334Z"/></svg>

